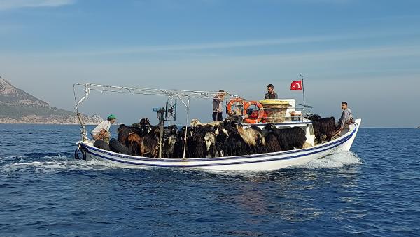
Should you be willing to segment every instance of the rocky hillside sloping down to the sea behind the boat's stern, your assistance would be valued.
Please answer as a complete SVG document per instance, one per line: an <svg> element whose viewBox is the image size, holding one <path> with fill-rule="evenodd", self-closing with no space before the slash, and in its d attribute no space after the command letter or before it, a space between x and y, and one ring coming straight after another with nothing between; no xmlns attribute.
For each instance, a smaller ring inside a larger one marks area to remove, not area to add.
<svg viewBox="0 0 420 237"><path fill-rule="evenodd" d="M83 115L86 124L100 123L97 115ZM15 88L0 77L0 123L78 123L75 112L52 107L47 102Z"/></svg>

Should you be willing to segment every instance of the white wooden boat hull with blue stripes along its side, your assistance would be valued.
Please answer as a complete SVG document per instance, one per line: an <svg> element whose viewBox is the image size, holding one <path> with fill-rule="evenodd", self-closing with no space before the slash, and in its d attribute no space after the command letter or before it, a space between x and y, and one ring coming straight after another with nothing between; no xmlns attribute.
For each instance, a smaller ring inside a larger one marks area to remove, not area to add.
<svg viewBox="0 0 420 237"><path fill-rule="evenodd" d="M86 151L87 160L97 159L109 161L118 166L139 168L188 168L206 170L235 170L235 171L270 171L279 170L295 165L302 165L311 160L322 158L339 151L349 151L358 132L360 119L349 126L340 137L330 142L318 144L315 147L279 151L266 154L246 156L228 156L215 158L148 158L129 156L112 151L105 151L94 147L91 141L81 142L80 146Z"/></svg>

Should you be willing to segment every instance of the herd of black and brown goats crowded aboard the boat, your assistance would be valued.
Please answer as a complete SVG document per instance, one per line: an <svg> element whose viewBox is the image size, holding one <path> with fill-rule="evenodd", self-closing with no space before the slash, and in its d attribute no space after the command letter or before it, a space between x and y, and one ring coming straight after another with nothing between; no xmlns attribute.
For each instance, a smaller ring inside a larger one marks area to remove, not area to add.
<svg viewBox="0 0 420 237"><path fill-rule="evenodd" d="M332 139L334 117L314 115L311 120L316 143ZM229 118L211 123L193 119L188 129L184 126L181 130L170 125L164 128L162 144L159 144L159 137L160 126L152 126L148 118L142 118L140 123L132 126L120 125L118 140L112 138L109 146L104 147L100 140L94 145L121 154L145 157L158 157L162 145L162 158L241 156L311 147L302 128L279 129L273 123L267 123L263 129L255 125L244 127Z"/></svg>

